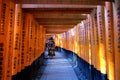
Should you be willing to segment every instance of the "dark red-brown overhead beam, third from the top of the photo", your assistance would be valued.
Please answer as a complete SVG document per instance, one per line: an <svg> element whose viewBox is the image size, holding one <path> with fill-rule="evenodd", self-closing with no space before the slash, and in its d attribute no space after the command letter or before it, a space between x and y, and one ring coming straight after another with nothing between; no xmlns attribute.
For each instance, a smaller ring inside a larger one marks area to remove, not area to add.
<svg viewBox="0 0 120 80"><path fill-rule="evenodd" d="M31 14L89 14L93 8L23 8Z"/></svg>

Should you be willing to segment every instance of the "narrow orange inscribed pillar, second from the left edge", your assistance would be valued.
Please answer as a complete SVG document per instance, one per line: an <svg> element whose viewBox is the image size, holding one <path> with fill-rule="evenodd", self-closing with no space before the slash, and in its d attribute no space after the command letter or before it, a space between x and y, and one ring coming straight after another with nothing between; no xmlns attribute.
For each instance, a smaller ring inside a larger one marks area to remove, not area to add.
<svg viewBox="0 0 120 80"><path fill-rule="evenodd" d="M15 16L15 3L10 1L9 3L9 25L7 32L7 58L6 58L6 70L5 80L12 80L12 55L13 55L13 34L14 34L14 16Z"/></svg>

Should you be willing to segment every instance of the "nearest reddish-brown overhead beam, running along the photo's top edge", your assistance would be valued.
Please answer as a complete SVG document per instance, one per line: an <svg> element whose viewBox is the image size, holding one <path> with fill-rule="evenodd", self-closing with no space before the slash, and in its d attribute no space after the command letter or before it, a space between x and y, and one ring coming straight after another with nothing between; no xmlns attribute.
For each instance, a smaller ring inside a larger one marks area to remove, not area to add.
<svg viewBox="0 0 120 80"><path fill-rule="evenodd" d="M79 4L79 5L104 5L104 1L113 0L15 0L22 4Z"/></svg>

